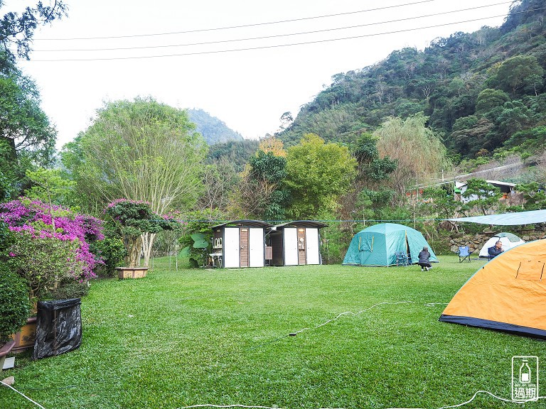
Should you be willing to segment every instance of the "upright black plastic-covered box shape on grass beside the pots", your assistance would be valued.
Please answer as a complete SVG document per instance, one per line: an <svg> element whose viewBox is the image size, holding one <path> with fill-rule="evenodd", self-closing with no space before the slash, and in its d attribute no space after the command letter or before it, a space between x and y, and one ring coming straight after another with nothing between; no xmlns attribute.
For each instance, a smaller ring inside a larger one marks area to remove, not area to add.
<svg viewBox="0 0 546 409"><path fill-rule="evenodd" d="M32 359L64 354L82 344L80 298L39 301Z"/></svg>

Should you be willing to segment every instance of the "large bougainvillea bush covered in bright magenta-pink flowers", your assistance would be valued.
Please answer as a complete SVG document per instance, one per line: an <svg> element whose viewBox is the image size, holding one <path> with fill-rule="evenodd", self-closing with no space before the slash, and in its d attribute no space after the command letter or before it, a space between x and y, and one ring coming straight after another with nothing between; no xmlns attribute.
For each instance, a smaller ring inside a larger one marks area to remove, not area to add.
<svg viewBox="0 0 546 409"><path fill-rule="evenodd" d="M27 278L33 295L55 280L95 278L101 260L90 242L104 238L100 219L21 197L0 204L0 222L14 233L9 263Z"/></svg>

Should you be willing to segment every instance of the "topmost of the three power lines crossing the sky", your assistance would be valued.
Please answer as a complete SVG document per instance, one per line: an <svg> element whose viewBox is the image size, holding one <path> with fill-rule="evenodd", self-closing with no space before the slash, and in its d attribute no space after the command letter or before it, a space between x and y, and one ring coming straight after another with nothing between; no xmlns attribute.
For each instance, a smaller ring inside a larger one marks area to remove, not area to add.
<svg viewBox="0 0 546 409"><path fill-rule="evenodd" d="M384 7L378 7L376 9L366 9L366 10L359 10L359 11L347 11L346 13L335 13L335 14L325 14L323 16L313 16L313 17L302 17L302 18L292 18L290 20L280 20L280 21L269 21L265 23L252 23L252 24L242 24L241 26L226 26L226 27L215 27L215 28L200 28L197 30L188 30L188 31L174 31L172 33L152 33L152 34L134 34L131 36L107 36L107 37L82 37L82 38L41 38L36 40L48 40L48 41L65 41L65 40L107 40L110 38L137 38L137 37L152 37L152 36L171 36L174 34L188 34L188 33L200 33L204 31L220 31L220 30L230 30L232 28L246 28L246 27L256 27L256 26L269 26L272 24L280 24L280 23L292 23L294 21L306 21L306 20L314 20L316 18L327 18L327 17L337 17L337 16L348 16L350 14L358 14L358 13L368 13L369 11L379 11L379 10L387 10L387 9L396 9L398 7L404 7L404 6L413 6L414 4L422 4L422 3L430 3L431 1L435 0L421 0L421 1L414 1L413 3L407 3L407 4L397 4L395 6L384 6Z"/></svg>

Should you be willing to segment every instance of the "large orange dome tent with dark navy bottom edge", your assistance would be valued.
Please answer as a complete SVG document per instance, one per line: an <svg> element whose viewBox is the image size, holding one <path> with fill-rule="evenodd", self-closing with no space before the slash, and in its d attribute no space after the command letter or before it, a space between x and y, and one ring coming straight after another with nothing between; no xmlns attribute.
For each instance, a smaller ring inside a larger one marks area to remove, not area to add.
<svg viewBox="0 0 546 409"><path fill-rule="evenodd" d="M486 263L449 302L440 321L546 339L546 239Z"/></svg>

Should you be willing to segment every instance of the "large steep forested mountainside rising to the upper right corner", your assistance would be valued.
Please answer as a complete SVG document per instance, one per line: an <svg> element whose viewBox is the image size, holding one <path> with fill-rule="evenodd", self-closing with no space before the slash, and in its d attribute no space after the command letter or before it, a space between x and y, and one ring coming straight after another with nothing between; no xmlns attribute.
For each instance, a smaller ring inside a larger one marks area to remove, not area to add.
<svg viewBox="0 0 546 409"><path fill-rule="evenodd" d="M333 75L277 137L290 146L312 132L350 144L390 116L423 112L455 161L498 148L536 151L546 143L545 7L514 1L501 27L454 33Z"/></svg>

